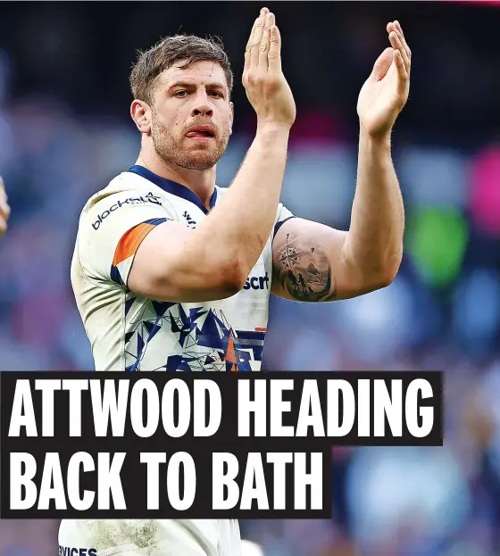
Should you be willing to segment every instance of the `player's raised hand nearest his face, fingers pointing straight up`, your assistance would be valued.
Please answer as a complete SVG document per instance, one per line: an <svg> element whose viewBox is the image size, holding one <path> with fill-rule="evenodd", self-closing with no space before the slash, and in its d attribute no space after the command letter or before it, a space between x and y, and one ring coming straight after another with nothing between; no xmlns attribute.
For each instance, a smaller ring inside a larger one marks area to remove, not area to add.
<svg viewBox="0 0 500 556"><path fill-rule="evenodd" d="M248 39L242 82L257 113L258 126L265 123L293 125L296 104L281 71L279 29L274 14L267 8L262 8Z"/></svg>

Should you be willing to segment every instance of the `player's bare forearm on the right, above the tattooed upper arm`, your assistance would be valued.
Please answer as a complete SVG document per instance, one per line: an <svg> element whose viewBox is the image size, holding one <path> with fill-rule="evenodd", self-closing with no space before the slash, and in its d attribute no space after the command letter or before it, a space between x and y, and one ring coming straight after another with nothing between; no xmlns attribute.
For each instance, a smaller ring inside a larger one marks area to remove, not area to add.
<svg viewBox="0 0 500 556"><path fill-rule="evenodd" d="M403 235L404 205L390 137L372 138L362 129L346 263L369 288L388 284L401 263Z"/></svg>

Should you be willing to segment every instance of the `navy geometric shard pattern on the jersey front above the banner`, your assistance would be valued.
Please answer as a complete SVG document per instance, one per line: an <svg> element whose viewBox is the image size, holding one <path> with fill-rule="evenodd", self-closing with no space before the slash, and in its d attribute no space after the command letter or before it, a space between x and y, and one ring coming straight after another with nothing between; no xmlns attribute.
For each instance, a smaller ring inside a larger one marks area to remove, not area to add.
<svg viewBox="0 0 500 556"><path fill-rule="evenodd" d="M132 296L126 302L128 311L134 300ZM134 329L125 336L126 370L140 370L148 344L164 329L169 331L169 339L176 339L178 348L172 348L162 366L154 370L251 371L250 361L262 361L265 332L233 330L223 312L219 313L204 307L187 312L181 303L146 303L130 322Z"/></svg>

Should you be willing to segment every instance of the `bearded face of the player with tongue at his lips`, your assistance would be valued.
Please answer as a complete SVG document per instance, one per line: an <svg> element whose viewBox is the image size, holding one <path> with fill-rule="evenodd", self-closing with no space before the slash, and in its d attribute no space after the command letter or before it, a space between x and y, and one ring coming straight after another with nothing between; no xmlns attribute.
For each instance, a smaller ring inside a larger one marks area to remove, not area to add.
<svg viewBox="0 0 500 556"><path fill-rule="evenodd" d="M163 71L154 86L151 137L167 163L191 170L212 168L228 146L233 105L221 66L195 62Z"/></svg>

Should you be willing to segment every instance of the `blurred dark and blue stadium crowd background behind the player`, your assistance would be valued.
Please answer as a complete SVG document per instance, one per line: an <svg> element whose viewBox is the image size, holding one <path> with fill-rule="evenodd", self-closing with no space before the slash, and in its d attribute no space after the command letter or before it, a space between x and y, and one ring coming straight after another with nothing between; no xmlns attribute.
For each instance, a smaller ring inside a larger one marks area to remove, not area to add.
<svg viewBox="0 0 500 556"><path fill-rule="evenodd" d="M333 519L243 521L265 556L500 554L500 6L271 2L296 95L282 201L348 228L357 95L398 19L410 101L393 137L404 262L379 292L323 306L272 299L264 369L443 369L442 448L337 448ZM489 3L495 4L495 3ZM261 4L0 3L0 369L93 369L70 260L87 198L136 160L128 77L137 48L218 35L236 75L228 186L254 135L241 87ZM0 556L57 553L56 521L0 521Z"/></svg>

